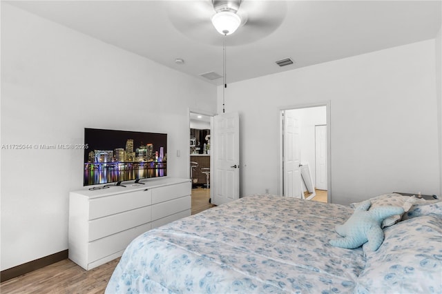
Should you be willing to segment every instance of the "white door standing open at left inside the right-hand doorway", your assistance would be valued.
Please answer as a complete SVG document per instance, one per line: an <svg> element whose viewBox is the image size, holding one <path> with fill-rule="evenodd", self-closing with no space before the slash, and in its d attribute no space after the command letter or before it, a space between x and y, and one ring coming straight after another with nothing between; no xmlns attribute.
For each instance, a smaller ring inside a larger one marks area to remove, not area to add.
<svg viewBox="0 0 442 294"><path fill-rule="evenodd" d="M283 128L283 193L287 197L303 198L300 173L300 133L299 121L291 112L284 111Z"/></svg>

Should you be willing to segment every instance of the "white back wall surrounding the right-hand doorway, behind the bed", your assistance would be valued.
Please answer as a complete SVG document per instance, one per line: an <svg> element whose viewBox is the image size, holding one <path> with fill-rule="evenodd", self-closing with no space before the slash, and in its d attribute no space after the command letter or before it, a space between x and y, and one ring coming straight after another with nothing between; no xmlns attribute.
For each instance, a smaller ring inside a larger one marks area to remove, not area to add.
<svg viewBox="0 0 442 294"><path fill-rule="evenodd" d="M439 193L434 48L432 39L229 84L227 112L240 113L241 195L279 193L280 108L324 101L333 203Z"/></svg>

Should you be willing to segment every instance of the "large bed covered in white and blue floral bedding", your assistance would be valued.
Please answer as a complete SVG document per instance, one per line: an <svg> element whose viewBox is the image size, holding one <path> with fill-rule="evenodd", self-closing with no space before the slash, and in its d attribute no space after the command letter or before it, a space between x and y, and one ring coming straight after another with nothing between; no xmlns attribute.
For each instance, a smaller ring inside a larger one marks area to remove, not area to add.
<svg viewBox="0 0 442 294"><path fill-rule="evenodd" d="M428 204L371 252L329 244L352 206L243 197L134 239L106 293L442 293L442 206Z"/></svg>

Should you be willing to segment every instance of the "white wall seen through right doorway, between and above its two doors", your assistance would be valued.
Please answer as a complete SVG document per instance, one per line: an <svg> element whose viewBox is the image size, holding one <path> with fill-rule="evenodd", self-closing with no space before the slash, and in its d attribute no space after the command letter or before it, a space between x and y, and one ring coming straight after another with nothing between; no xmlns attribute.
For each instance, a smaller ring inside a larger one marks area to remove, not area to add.
<svg viewBox="0 0 442 294"><path fill-rule="evenodd" d="M300 119L301 163L309 164L311 180L316 183L315 126L327 124L325 106L287 110Z"/></svg>

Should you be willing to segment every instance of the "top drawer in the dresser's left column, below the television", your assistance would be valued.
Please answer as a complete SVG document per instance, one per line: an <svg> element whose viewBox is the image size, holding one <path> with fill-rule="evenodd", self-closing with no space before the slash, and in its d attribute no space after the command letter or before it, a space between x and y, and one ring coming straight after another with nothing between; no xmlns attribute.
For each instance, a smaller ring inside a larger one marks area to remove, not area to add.
<svg viewBox="0 0 442 294"><path fill-rule="evenodd" d="M120 193L96 199L90 199L89 219L105 217L122 211L152 204L151 190Z"/></svg>

